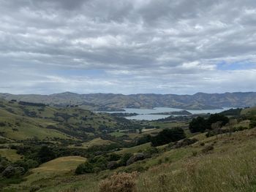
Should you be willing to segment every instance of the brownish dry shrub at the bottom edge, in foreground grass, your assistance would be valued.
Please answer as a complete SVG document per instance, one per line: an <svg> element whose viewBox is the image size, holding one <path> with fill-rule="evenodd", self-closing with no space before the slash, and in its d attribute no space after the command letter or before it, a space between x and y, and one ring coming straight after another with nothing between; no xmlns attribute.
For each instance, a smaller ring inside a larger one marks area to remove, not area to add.
<svg viewBox="0 0 256 192"><path fill-rule="evenodd" d="M99 192L135 192L137 172L115 173L99 183Z"/></svg>

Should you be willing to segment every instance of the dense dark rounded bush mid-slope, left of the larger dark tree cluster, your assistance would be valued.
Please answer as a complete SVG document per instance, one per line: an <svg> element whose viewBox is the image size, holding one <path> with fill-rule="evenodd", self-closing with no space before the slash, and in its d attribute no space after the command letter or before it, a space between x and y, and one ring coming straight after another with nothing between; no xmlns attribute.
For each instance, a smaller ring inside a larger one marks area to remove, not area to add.
<svg viewBox="0 0 256 192"><path fill-rule="evenodd" d="M176 142L184 139L185 137L186 136L182 128L164 129L163 131L159 132L157 136L151 138L151 145L154 147L165 145L170 142Z"/></svg>

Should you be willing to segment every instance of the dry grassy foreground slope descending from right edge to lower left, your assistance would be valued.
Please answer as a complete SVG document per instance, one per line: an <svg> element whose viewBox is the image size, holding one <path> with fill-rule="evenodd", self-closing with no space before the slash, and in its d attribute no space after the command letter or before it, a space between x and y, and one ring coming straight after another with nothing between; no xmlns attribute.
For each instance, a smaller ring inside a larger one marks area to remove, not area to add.
<svg viewBox="0 0 256 192"><path fill-rule="evenodd" d="M256 190L256 128L236 132L231 137L222 135L218 138L206 138L204 134L194 137L200 141L192 146L167 150L128 167L107 170L100 174L61 175L53 180L45 179L48 187L42 191L63 191L71 188L78 191L97 191L99 181L108 175L138 166L148 169L140 173L137 179L138 191L142 192ZM202 142L205 143L204 146L200 145ZM203 153L202 149L209 145L213 145L214 150ZM140 146L142 147L145 146Z"/></svg>

